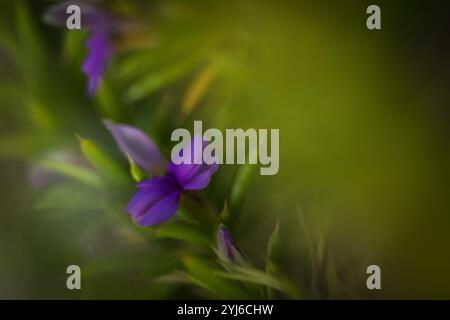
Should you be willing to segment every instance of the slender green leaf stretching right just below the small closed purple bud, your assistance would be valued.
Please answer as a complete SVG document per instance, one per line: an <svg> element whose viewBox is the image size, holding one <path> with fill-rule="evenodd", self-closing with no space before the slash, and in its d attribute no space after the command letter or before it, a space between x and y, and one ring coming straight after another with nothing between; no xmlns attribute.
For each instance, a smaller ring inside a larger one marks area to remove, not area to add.
<svg viewBox="0 0 450 320"><path fill-rule="evenodd" d="M235 266L232 270L232 272L217 271L216 274L228 279L267 286L279 290L292 298L298 299L302 297L299 290L290 281L280 276L274 277L251 267Z"/></svg>

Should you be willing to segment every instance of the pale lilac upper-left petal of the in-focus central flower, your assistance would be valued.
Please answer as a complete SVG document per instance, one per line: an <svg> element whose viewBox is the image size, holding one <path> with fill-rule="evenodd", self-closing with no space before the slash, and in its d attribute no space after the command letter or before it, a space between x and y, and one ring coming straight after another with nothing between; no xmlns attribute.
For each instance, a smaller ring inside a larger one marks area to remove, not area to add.
<svg viewBox="0 0 450 320"><path fill-rule="evenodd" d="M150 173L163 172L165 160L156 144L141 130L105 120L120 150L129 155L134 162Z"/></svg>

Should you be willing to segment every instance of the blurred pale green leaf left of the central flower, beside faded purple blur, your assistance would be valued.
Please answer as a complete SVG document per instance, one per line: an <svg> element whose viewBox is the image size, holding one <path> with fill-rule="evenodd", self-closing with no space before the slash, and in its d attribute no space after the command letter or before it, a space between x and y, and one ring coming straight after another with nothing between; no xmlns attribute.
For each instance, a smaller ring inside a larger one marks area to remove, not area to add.
<svg viewBox="0 0 450 320"><path fill-rule="evenodd" d="M102 185L100 178L95 172L79 165L55 160L43 160L40 163L50 170L54 170L90 186L99 187Z"/></svg>

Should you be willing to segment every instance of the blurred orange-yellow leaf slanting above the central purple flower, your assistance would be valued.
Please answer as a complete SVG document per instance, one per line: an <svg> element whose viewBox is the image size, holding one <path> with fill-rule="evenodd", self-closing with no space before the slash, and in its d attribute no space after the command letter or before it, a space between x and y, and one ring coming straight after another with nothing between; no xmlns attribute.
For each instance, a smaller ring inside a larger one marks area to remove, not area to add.
<svg viewBox="0 0 450 320"><path fill-rule="evenodd" d="M197 106L197 104L203 99L208 91L211 83L217 76L217 66L209 64L205 66L194 78L189 85L184 96L181 111L184 114L189 114Z"/></svg>

